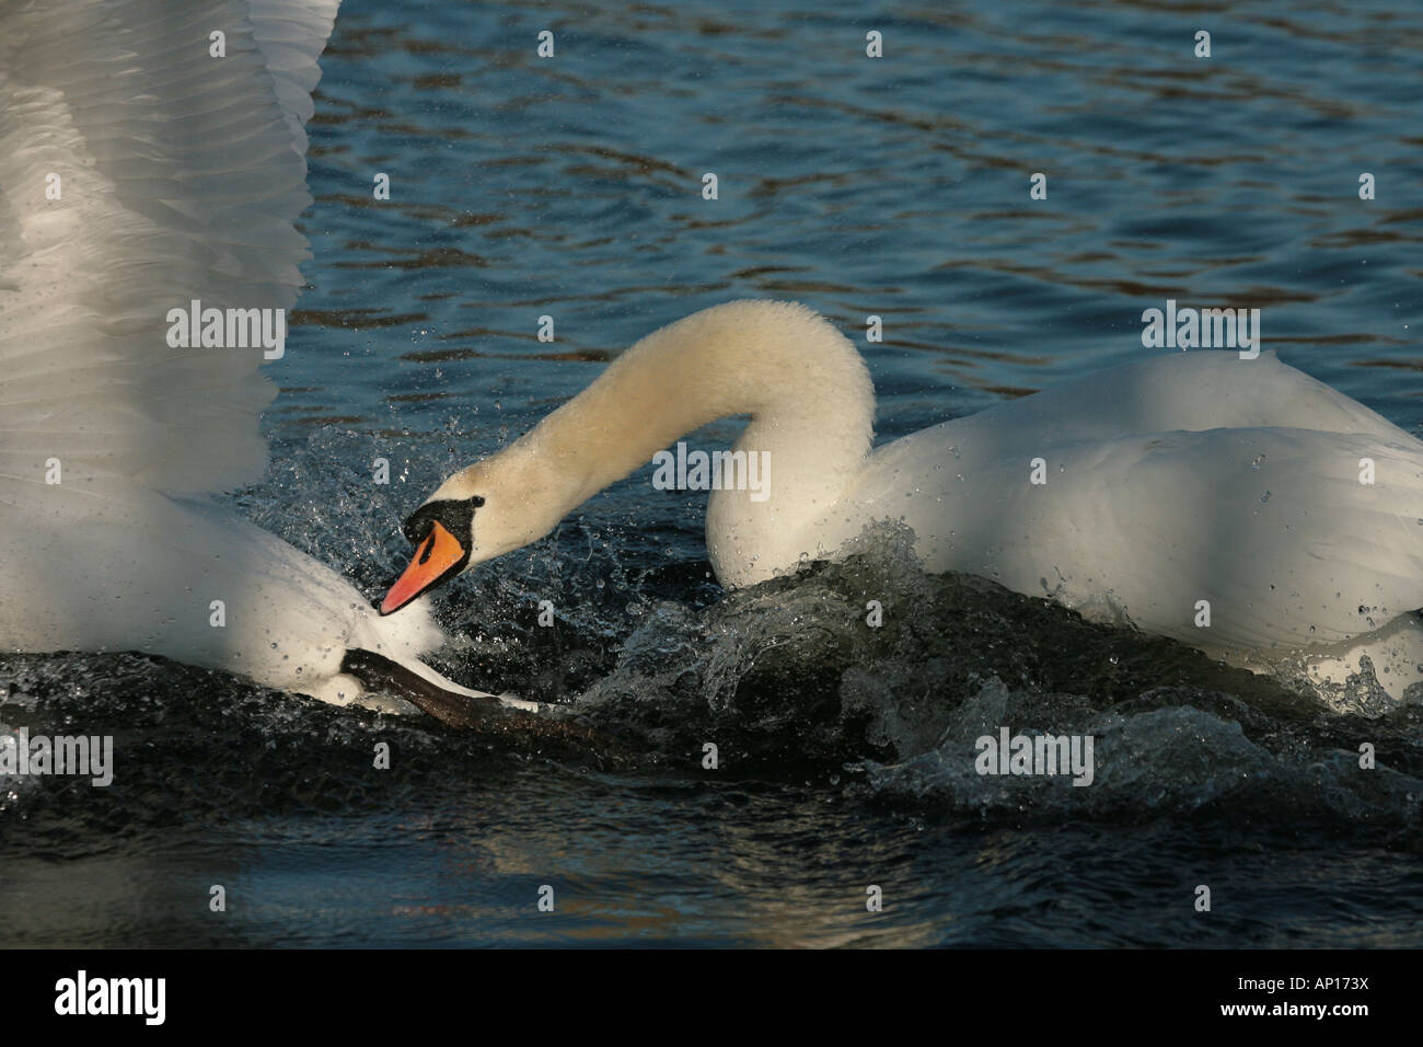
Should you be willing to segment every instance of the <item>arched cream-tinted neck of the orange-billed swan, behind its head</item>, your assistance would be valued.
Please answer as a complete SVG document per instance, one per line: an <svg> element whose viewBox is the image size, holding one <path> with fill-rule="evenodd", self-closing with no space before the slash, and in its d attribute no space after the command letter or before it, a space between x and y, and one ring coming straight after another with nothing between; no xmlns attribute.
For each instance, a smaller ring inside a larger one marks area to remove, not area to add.
<svg viewBox="0 0 1423 1047"><path fill-rule="evenodd" d="M788 507L844 490L858 473L874 434L874 386L855 348L814 311L731 302L647 335L502 454L554 470L562 519L679 437L733 415L751 416L736 450L768 454L771 497Z"/></svg>

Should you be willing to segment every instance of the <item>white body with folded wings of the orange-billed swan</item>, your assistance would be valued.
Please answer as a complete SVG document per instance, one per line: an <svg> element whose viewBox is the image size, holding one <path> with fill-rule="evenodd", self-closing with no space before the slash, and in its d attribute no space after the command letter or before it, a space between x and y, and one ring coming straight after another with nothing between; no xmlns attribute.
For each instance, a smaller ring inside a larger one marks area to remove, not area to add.
<svg viewBox="0 0 1423 1047"><path fill-rule="evenodd" d="M1158 356L925 429L851 500L929 570L1225 655L1423 605L1423 443L1272 353Z"/></svg>

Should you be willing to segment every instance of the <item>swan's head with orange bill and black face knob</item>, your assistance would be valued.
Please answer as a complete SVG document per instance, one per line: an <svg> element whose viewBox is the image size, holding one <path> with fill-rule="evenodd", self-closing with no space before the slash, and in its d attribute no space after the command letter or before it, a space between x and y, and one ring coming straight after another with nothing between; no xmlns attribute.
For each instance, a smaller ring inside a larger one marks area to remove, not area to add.
<svg viewBox="0 0 1423 1047"><path fill-rule="evenodd" d="M406 519L401 530L414 556L381 601L381 614L554 530L564 511L549 477L512 450L455 473Z"/></svg>

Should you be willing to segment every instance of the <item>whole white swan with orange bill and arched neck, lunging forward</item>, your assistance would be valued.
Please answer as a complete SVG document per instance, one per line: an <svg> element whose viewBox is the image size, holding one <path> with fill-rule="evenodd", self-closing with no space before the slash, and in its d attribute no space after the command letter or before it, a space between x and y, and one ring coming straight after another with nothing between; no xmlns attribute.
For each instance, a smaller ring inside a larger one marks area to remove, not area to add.
<svg viewBox="0 0 1423 1047"><path fill-rule="evenodd" d="M931 571L1124 614L1238 664L1303 651L1321 682L1343 682L1360 654L1390 694L1420 679L1423 630L1407 613L1423 607L1423 443L1372 410L1274 353L1173 353L871 453L864 362L827 321L783 302L653 332L451 476L406 523L416 557L381 611L542 537L730 415L750 415L733 450L766 453L770 486L764 500L710 496L707 550L724 585L835 556L865 524L898 520ZM1373 483L1360 483L1363 459Z"/></svg>

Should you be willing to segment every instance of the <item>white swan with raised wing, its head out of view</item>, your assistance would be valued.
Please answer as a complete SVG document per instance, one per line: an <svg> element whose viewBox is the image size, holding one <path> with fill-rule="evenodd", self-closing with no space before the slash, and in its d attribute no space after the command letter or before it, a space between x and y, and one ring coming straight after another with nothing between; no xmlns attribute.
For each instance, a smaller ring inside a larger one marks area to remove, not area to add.
<svg viewBox="0 0 1423 1047"><path fill-rule="evenodd" d="M0 650L139 650L334 702L369 699L361 678L437 712L488 698L418 661L443 642L424 608L383 620L202 499L262 476L275 390L262 348L166 340L194 299L296 301L303 124L336 7L0 14Z"/></svg>

